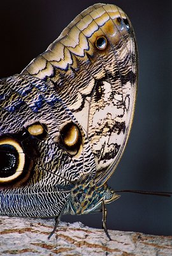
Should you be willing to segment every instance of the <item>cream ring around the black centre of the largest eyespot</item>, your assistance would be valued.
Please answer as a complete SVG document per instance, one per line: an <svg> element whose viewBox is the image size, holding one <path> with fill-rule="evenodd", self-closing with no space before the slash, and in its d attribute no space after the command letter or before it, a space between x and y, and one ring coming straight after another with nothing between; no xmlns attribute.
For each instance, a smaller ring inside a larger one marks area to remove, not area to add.
<svg viewBox="0 0 172 256"><path fill-rule="evenodd" d="M0 177L0 183L2 182L9 182L12 180L17 179L17 177L19 177L23 170L24 170L24 164L25 164L25 154L24 154L24 150L22 149L22 147L20 147L20 145L18 144L18 142L12 138L3 138L0 140L0 145L4 145L4 144L8 144L13 146L17 152L18 152L18 167L17 170L15 171L15 173L13 175L11 175L10 177L5 177L5 178L1 178Z"/></svg>

